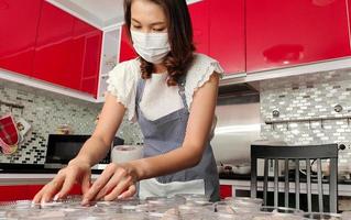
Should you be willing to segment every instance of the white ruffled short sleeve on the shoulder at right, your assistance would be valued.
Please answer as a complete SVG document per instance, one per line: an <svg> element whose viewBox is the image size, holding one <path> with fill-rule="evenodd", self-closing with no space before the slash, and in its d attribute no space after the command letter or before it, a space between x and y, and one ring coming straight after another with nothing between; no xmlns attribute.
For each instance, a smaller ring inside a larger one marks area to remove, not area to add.
<svg viewBox="0 0 351 220"><path fill-rule="evenodd" d="M216 59L204 54L195 54L195 59L187 73L185 85L185 97L189 109L191 108L194 92L204 86L215 72L222 78L223 69Z"/></svg>

